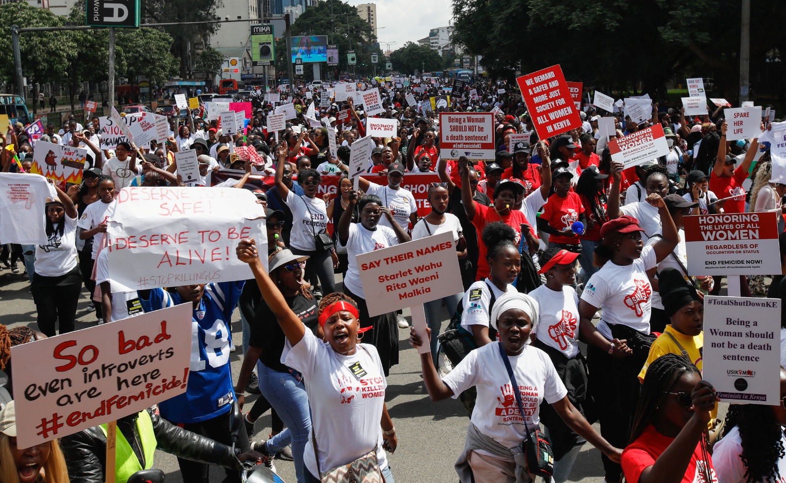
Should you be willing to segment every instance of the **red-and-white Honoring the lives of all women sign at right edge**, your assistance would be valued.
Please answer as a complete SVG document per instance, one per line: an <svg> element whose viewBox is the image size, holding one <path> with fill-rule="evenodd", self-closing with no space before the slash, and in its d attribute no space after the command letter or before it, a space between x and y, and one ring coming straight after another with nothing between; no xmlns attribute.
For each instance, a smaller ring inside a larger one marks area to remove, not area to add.
<svg viewBox="0 0 786 483"><path fill-rule="evenodd" d="M775 212L685 216L688 274L771 273L780 266L777 231Z"/></svg>

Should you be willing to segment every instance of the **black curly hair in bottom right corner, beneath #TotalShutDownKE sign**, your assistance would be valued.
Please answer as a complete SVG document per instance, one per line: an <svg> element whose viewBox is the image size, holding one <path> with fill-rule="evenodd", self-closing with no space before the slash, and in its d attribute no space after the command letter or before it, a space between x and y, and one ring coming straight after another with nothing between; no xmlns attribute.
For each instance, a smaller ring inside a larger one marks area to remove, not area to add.
<svg viewBox="0 0 786 483"><path fill-rule="evenodd" d="M783 367L780 377L784 378ZM726 413L723 436L736 426L740 432L742 454L747 483L778 481L778 461L786 456L781 441L780 422L773 410L762 404L731 404ZM786 476L786 475L784 475Z"/></svg>

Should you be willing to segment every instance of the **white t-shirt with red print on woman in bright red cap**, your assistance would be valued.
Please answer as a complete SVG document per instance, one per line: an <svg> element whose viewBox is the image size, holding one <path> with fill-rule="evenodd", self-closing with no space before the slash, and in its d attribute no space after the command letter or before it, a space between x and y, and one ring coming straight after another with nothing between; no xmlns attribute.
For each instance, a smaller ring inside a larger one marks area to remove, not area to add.
<svg viewBox="0 0 786 483"><path fill-rule="evenodd" d="M542 285L530 292L538 300L540 319L532 332L538 341L556 348L568 359L578 355L578 295L571 286L562 291Z"/></svg>

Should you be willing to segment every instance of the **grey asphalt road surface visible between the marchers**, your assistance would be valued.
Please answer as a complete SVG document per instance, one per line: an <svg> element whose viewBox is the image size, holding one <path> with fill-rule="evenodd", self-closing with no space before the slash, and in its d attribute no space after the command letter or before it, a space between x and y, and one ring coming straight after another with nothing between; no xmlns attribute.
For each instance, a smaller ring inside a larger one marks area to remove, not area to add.
<svg viewBox="0 0 786 483"><path fill-rule="evenodd" d="M6 326L29 325L35 328L35 304L28 293L26 277L13 275L8 269L0 271L0 323ZM724 290L725 292L725 290ZM88 299L83 292L79 302L79 317L76 328L94 326L95 318L86 309ZM409 315L408 311L405 315ZM446 312L443 312L447 319ZM444 323L446 324L446 323ZM240 315L235 311L232 319L233 341L241 347ZM391 368L387 378L387 408L393 418L399 437L399 448L388 460L395 480L399 483L429 481L432 483L454 483L457 475L454 462L464 447L468 418L458 400L432 403L425 393L421 378L420 359L407 341L407 330L399 331L400 363ZM233 374L241 367L241 350L231 356ZM246 397L246 410L256 396ZM725 406L725 405L724 405ZM725 415L725 407L721 408ZM598 430L598 425L594 425ZM266 439L270 432L270 413L256 422L252 439ZM177 459L173 455L156 451L157 468L167 474L167 483L182 483ZM292 463L275 461L278 474L285 481L296 481ZM219 483L224 472L219 467L211 468L211 483ZM600 483L603 480L601 455L597 449L585 444L578 456L569 481Z"/></svg>

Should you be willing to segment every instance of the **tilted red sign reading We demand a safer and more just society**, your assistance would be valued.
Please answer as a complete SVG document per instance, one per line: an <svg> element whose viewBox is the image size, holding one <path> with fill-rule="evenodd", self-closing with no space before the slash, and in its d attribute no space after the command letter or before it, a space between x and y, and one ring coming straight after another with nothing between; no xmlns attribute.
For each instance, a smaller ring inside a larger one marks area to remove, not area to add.
<svg viewBox="0 0 786 483"><path fill-rule="evenodd" d="M538 138L547 139L582 126L560 65L516 79Z"/></svg>

